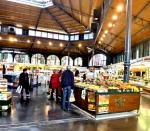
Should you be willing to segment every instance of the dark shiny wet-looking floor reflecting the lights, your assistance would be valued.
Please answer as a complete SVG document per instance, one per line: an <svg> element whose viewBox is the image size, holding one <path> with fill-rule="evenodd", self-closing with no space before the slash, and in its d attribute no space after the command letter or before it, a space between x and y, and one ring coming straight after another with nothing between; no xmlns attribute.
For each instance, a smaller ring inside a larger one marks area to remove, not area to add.
<svg viewBox="0 0 150 131"><path fill-rule="evenodd" d="M35 88L30 100L11 91L13 104L0 114L0 131L150 131L150 95L144 93L140 116L95 121L76 107L62 111L60 103L47 99L45 87Z"/></svg>

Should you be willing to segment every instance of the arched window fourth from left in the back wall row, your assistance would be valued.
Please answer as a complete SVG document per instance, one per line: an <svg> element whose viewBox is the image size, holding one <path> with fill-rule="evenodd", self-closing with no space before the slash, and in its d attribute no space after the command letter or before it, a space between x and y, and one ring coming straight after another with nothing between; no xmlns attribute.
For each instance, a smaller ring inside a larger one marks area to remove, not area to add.
<svg viewBox="0 0 150 131"><path fill-rule="evenodd" d="M47 57L48 65L60 65L60 60L56 55L50 55Z"/></svg>

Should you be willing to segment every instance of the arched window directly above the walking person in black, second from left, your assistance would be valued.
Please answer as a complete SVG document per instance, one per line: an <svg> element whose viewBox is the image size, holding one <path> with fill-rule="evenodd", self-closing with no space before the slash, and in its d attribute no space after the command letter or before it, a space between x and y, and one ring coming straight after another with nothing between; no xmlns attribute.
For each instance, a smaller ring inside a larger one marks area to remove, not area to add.
<svg viewBox="0 0 150 131"><path fill-rule="evenodd" d="M16 63L30 63L29 56L25 54L16 54L14 62Z"/></svg>

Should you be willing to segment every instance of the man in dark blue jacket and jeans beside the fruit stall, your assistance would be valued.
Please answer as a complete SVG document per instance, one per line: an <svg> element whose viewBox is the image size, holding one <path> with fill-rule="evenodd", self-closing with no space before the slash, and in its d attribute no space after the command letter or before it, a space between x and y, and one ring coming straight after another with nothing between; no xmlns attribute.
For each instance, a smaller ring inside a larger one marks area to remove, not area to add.
<svg viewBox="0 0 150 131"><path fill-rule="evenodd" d="M66 100L67 100L67 110L71 110L71 103L70 103L70 95L71 91L74 89L74 75L73 72L70 71L71 66L67 66L66 71L62 73L61 76L61 86L63 90L62 95L62 110L66 110Z"/></svg>

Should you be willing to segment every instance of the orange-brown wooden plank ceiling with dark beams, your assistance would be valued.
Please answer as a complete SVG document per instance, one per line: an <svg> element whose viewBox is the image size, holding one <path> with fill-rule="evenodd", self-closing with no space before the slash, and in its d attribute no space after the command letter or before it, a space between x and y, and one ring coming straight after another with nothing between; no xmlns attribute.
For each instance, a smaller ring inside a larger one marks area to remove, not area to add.
<svg viewBox="0 0 150 131"><path fill-rule="evenodd" d="M94 9L100 9L103 0L53 0L53 6L39 8L19 3L0 0L0 24L21 26L24 29L35 29L49 32L59 32L71 35L72 33L85 33L90 31L93 21ZM123 5L123 11L118 12L117 7ZM132 0L132 46L150 38L150 0ZM112 16L117 15L117 20ZM108 27L113 23L114 26ZM112 0L109 11L105 17L100 33L96 39L95 48L99 51L116 54L124 51L126 27L126 0ZM108 31L105 34L105 31ZM105 37L103 35L105 34ZM0 34L3 39L9 35ZM54 53L67 53L67 41L44 39L28 36L15 36L20 41L0 41L1 48L25 49ZM101 38L103 37L103 40ZM36 42L40 40L41 44ZM49 41L53 46L49 46ZM62 43L63 47L59 47ZM92 41L70 42L72 54L87 54L87 46ZM82 44L82 47L77 47ZM59 47L59 48L58 48Z"/></svg>

